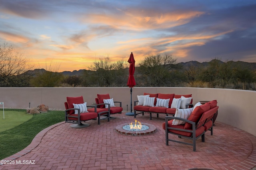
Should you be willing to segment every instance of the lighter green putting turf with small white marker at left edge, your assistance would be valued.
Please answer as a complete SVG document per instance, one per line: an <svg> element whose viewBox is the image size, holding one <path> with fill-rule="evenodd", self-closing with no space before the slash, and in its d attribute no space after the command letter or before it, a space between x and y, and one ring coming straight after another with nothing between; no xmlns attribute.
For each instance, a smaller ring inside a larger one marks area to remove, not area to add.
<svg viewBox="0 0 256 170"><path fill-rule="evenodd" d="M25 110L0 110L0 132L12 129L25 121L31 119L33 115L27 114Z"/></svg>

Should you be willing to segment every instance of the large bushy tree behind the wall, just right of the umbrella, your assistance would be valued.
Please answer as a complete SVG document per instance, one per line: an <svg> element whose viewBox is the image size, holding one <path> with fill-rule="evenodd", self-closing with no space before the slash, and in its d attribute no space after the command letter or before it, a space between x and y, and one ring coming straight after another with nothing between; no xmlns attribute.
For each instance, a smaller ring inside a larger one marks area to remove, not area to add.
<svg viewBox="0 0 256 170"><path fill-rule="evenodd" d="M170 86L172 84L171 70L177 68L177 59L172 55L148 55L138 65L140 80L144 80L140 86ZM173 84L172 84L173 85Z"/></svg>

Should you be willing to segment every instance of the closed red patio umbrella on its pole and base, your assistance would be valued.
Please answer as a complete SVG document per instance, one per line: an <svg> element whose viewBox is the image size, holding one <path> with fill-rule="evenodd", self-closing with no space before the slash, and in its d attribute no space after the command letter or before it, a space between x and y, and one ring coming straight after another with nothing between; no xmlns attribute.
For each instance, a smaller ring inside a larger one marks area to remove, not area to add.
<svg viewBox="0 0 256 170"><path fill-rule="evenodd" d="M135 79L134 79L134 71L135 71L135 60L133 57L133 54L131 53L130 58L128 60L128 63L130 63L129 66L129 77L128 77L128 82L127 82L127 86L129 86L130 92L131 92L131 112L126 113L125 115L134 115L134 113L132 113L132 88L136 85Z"/></svg>

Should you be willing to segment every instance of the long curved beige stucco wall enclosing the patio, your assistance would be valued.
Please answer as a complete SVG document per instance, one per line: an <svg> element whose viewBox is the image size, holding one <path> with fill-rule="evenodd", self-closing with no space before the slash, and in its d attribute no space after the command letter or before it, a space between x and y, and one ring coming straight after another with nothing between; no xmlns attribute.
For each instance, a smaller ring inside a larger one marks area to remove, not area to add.
<svg viewBox="0 0 256 170"><path fill-rule="evenodd" d="M238 127L256 136L256 91L216 89L216 88L179 88L179 87L134 87L132 105L137 95L147 93L192 94L193 104L200 100L217 100L218 117L216 121ZM49 108L64 109L66 97L83 96L88 105L95 103L97 94L109 93L115 101L122 102L124 110L130 111L130 88L0 88L0 102L5 108L37 107L45 104ZM0 105L2 107L2 105ZM156 115L153 115L153 117Z"/></svg>

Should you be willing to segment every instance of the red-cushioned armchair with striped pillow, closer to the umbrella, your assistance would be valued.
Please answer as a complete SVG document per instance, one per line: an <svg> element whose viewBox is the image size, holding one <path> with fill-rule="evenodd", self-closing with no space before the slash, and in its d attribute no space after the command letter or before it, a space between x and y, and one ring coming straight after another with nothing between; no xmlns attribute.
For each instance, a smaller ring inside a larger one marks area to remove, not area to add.
<svg viewBox="0 0 256 170"><path fill-rule="evenodd" d="M97 94L97 98L95 98L96 102L96 112L109 111L110 115L116 113L122 113L122 102L116 102L113 98L110 98L109 94ZM115 103L119 106L115 106ZM92 111L93 109L88 109L88 111ZM110 119L115 119L115 117L111 117Z"/></svg>

